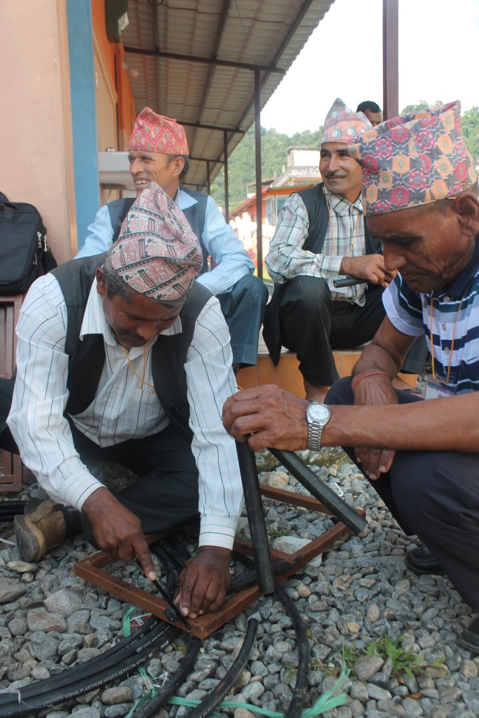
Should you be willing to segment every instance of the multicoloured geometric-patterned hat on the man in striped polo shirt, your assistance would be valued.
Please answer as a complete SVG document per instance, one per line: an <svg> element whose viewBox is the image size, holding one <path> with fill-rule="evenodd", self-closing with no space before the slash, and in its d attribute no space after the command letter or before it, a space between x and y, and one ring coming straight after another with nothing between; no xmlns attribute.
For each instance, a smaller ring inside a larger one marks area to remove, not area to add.
<svg viewBox="0 0 479 718"><path fill-rule="evenodd" d="M400 115L349 147L363 168L366 215L454 197L477 181L460 134L460 101Z"/></svg>

